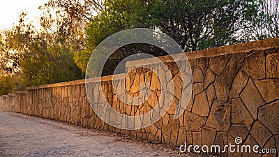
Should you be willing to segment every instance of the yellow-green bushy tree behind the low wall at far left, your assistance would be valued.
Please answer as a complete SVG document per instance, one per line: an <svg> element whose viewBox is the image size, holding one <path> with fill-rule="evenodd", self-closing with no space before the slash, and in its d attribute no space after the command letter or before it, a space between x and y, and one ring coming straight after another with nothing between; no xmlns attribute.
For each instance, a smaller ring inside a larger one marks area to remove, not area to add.
<svg viewBox="0 0 279 157"><path fill-rule="evenodd" d="M4 32L1 47L3 52L13 53L13 58L23 73L27 86L79 80L84 76L73 61L73 52L61 32L37 31L25 24L22 13L19 25Z"/></svg>

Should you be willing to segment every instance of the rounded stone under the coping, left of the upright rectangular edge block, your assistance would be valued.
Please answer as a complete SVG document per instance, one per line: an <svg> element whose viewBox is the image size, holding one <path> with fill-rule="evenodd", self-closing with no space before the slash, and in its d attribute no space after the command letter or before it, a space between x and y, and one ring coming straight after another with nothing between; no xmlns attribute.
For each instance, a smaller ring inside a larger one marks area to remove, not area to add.
<svg viewBox="0 0 279 157"><path fill-rule="evenodd" d="M248 55L244 61L243 70L255 80L266 76L264 50L258 50Z"/></svg>

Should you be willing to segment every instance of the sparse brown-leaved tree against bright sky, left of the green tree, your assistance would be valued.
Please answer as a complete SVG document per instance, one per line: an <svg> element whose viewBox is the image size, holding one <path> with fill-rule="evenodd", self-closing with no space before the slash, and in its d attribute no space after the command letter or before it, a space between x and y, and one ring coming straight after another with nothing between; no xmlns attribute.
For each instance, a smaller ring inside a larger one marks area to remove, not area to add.
<svg viewBox="0 0 279 157"><path fill-rule="evenodd" d="M44 30L62 33L73 43L71 49L84 49L84 33L89 19L98 15L103 9L103 0L48 0L40 17Z"/></svg>

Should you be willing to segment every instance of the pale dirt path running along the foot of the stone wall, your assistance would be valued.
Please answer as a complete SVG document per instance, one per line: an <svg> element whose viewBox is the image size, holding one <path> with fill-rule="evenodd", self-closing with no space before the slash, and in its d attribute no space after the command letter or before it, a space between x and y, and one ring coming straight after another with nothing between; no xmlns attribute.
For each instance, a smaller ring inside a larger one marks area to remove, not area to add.
<svg viewBox="0 0 279 157"><path fill-rule="evenodd" d="M0 156L197 156L161 144L0 112Z"/></svg>

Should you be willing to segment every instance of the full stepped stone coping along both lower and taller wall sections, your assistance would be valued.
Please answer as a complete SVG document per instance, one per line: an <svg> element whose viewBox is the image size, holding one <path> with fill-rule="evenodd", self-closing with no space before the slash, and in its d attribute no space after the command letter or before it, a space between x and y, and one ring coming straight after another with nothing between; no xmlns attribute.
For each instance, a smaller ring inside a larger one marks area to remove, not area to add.
<svg viewBox="0 0 279 157"><path fill-rule="evenodd" d="M239 53L239 52L249 52L252 50L266 50L274 47L279 47L279 38L270 38L266 40L257 40L257 41L252 41L248 43L240 43L236 45L227 45L223 47L215 47L215 48L210 48L206 50L197 50L194 52L186 52L186 56L188 59L196 59L196 58L201 58L201 57L214 57L214 56L220 56L220 55L225 55L225 54L234 54L234 53ZM174 54L174 59L179 60L179 56L181 54ZM174 61L172 57L170 56L163 56L163 57L158 57L163 62L170 62ZM153 64L154 59L140 59L137 61L128 61L126 63L126 67L133 67L133 66L139 66L139 65L149 65ZM119 74L119 75L109 75L109 76L104 76L101 77L102 81L111 81L112 77L114 80L119 80L123 75L126 75L125 73ZM100 77L94 77L86 80L86 82L97 82L100 80ZM70 81L70 82L61 82L61 83L56 83L56 84L46 84L46 85L41 85L41 86L36 86L36 87L27 87L27 90L32 90L32 89L43 89L43 88L51 88L51 87L61 87L61 86L70 86L70 85L75 85L75 84L85 84L85 80L76 80L76 81Z"/></svg>

